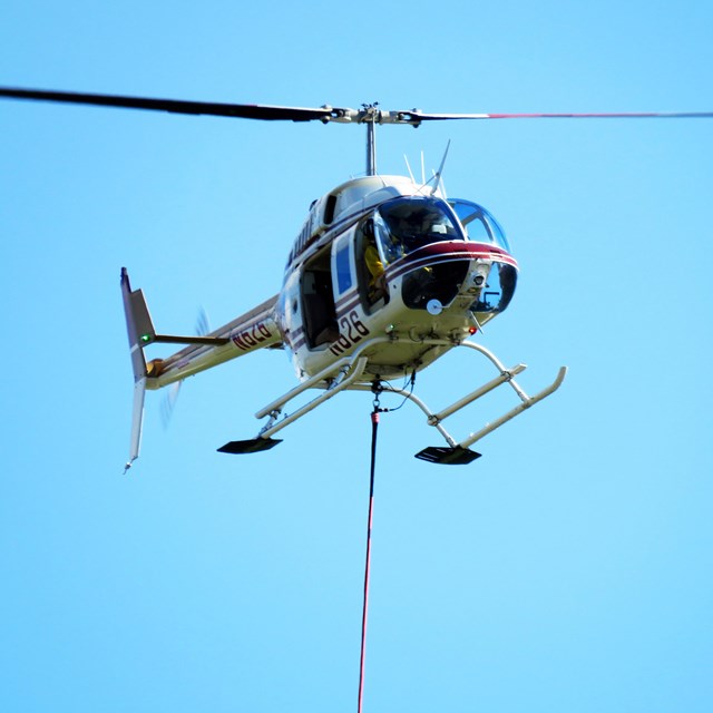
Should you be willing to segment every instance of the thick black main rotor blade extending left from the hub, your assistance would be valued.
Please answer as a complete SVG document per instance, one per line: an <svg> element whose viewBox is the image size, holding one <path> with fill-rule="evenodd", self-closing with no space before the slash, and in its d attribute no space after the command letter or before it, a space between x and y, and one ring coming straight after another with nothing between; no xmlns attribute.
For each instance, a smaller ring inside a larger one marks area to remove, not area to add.
<svg viewBox="0 0 713 713"><path fill-rule="evenodd" d="M208 116L229 116L242 119L262 119L265 121L329 121L330 107L302 108L275 107L253 104L216 104L209 101L182 101L176 99L150 99L144 97L120 97L102 94L79 94L76 91L45 91L39 89L17 89L0 87L0 97L29 99L35 101L60 101L62 104L89 104L125 109L147 109L149 111L169 111L170 114L193 114Z"/></svg>

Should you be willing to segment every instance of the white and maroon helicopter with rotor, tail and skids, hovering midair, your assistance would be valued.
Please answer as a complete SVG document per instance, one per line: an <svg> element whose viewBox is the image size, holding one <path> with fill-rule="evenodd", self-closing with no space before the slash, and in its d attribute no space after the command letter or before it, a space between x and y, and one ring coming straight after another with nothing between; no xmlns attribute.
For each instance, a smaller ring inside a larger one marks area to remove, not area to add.
<svg viewBox="0 0 713 713"><path fill-rule="evenodd" d="M363 176L331 189L310 206L287 254L280 291L217 330L198 335L157 332L141 290L131 287L128 271L120 289L134 373L134 408L128 470L139 456L147 390L179 384L188 377L262 349L289 353L299 384L255 414L264 419L254 438L229 441L217 450L253 453L281 442L274 436L344 390L401 394L414 403L445 439L416 457L432 463L467 465L480 457L471 446L535 403L554 393L567 368L529 395L516 381L526 365L507 368L473 341L482 326L510 304L518 275L504 229L481 205L447 197L442 170L448 154L430 179L382 175L377 170L375 128L419 127L422 123L462 119L539 118L712 118L713 113L617 114L429 114L419 109L384 111L378 104L360 109L215 104L0 88L0 97L58 101L172 114L209 115L257 120L355 124L367 128ZM184 345L147 360L153 344ZM413 393L416 374L456 348L489 361L496 375L453 403L433 410ZM411 388L391 382L410 379ZM456 439L443 421L508 384L519 403L467 437ZM319 390L316 397L306 394ZM294 410L289 404L306 398Z"/></svg>

